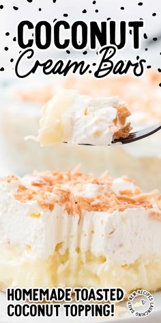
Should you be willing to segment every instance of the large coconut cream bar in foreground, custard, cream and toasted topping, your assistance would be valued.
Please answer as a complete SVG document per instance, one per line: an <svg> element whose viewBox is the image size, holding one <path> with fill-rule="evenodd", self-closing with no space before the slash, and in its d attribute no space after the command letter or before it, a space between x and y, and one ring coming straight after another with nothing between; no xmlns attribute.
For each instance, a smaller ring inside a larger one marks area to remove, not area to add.
<svg viewBox="0 0 161 323"><path fill-rule="evenodd" d="M161 288L161 196L127 177L0 181L0 286Z"/></svg>

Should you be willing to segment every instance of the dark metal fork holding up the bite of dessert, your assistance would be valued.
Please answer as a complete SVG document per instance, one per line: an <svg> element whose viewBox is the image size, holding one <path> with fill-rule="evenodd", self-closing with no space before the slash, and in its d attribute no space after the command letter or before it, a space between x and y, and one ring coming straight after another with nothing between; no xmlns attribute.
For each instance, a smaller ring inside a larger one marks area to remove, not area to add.
<svg viewBox="0 0 161 323"><path fill-rule="evenodd" d="M153 125L151 127L147 127L145 129L141 129L141 130L132 132L132 133L130 133L130 135L128 135L127 138L115 139L108 146L111 146L113 144L130 144L130 142L134 142L136 140L141 140L143 138L146 138L149 135L152 135L153 133L159 131L160 129L161 129L161 121L156 123L156 125ZM66 143L67 142L65 142L65 144ZM81 145L84 145L84 146L96 146L94 144L81 144Z"/></svg>

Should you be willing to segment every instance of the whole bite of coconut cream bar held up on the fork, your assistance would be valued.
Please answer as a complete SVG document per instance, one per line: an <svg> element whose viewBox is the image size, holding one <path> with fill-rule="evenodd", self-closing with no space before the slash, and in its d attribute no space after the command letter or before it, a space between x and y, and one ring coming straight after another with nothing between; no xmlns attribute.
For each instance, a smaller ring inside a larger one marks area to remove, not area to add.
<svg viewBox="0 0 161 323"><path fill-rule="evenodd" d="M61 90L44 105L35 140L42 146L56 142L111 144L115 138L128 136L128 116L130 112L118 96L91 99L76 90Z"/></svg>

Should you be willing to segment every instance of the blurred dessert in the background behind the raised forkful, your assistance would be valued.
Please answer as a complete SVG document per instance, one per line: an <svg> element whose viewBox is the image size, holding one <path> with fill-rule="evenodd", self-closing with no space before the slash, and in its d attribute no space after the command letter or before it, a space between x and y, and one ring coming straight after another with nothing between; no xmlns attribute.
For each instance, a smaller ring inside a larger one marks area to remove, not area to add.
<svg viewBox="0 0 161 323"><path fill-rule="evenodd" d="M93 97L119 95L132 112L130 118L134 129L152 125L161 120L158 83L159 74L149 72L141 78L126 76L96 80L68 77L53 78L49 83L38 83L32 88L20 89L15 83L5 86L0 118L5 173L23 175L34 169L67 170L82 164L85 172L99 175L108 169L111 176L124 174L132 177L143 190L161 190L160 132L132 144L106 147L65 144L40 147L37 142L24 140L26 135L37 134L42 105L61 88L77 89L81 94Z"/></svg>

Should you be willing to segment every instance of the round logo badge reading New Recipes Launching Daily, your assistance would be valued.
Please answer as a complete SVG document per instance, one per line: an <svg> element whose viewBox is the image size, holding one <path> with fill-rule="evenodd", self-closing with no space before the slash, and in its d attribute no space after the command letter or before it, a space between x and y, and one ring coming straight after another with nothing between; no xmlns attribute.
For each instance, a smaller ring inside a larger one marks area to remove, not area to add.
<svg viewBox="0 0 161 323"><path fill-rule="evenodd" d="M144 289L138 289L128 297L127 307L130 313L138 318L143 318L154 309L153 296Z"/></svg>

